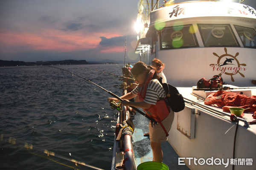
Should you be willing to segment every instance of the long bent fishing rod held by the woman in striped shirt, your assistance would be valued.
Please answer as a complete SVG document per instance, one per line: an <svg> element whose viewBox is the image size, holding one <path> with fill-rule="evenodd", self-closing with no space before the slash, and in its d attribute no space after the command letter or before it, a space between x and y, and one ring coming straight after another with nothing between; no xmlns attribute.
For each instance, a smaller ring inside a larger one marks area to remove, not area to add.
<svg viewBox="0 0 256 170"><path fill-rule="evenodd" d="M50 67L52 67L52 68L58 68L58 67L54 67L54 66L50 66ZM92 83L93 85L96 85L97 87L101 88L102 90L108 92L108 94L110 94L111 96L115 97L116 99L119 99L121 102L123 101L123 99L121 99L121 98L120 98L119 96L117 96L116 94L113 94L111 91L108 91L108 90L106 90L105 88L102 88L101 86L97 85L96 83L94 83L94 82L92 82L92 81L90 81L90 80L88 80L88 79L86 79L86 78L84 78L84 77L81 77L81 76L79 76L78 74L75 74L75 73L73 73L73 72L71 72L71 71L68 71L68 70L65 70L65 69L63 69L63 68L58 68L58 69L60 69L61 71L66 71L66 72L68 72L68 73L71 73L72 75L76 75L77 77L80 77L80 78L84 79L85 81L90 82L90 83ZM157 121L155 121L153 118L149 117L148 115L146 115L145 113L143 113L143 112L140 111L139 109L135 108L134 106L130 106L130 107L133 108L135 111L139 112L140 114L142 114L143 116L145 116L146 118L148 118L149 120L151 120L152 122L157 123Z"/></svg>

